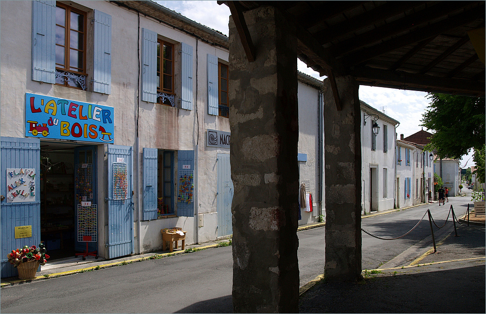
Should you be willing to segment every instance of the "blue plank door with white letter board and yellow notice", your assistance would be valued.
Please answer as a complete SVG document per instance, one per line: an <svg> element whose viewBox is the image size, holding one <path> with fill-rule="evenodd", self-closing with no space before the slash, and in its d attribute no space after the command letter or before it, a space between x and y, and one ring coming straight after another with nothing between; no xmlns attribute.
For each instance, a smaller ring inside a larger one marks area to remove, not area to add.
<svg viewBox="0 0 486 314"><path fill-rule="evenodd" d="M24 245L38 245L40 242L40 141L37 138L1 137L1 169L0 192L1 201L1 277L14 277L18 275L7 259L7 253L22 248ZM29 181L34 181L34 196L12 199L15 189L7 188L7 169L34 169L36 174ZM10 199L8 199L10 197ZM31 228L31 237L25 234L16 239L16 227Z"/></svg>

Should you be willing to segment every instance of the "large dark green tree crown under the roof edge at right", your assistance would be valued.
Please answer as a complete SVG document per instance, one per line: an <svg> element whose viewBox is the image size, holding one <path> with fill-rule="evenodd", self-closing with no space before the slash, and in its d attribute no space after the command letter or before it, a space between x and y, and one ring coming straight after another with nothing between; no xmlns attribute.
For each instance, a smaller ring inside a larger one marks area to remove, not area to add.
<svg viewBox="0 0 486 314"><path fill-rule="evenodd" d="M485 98L435 93L429 93L427 98L431 103L421 120L422 126L433 134L427 150L436 149L442 158L459 159L471 148L484 148Z"/></svg>

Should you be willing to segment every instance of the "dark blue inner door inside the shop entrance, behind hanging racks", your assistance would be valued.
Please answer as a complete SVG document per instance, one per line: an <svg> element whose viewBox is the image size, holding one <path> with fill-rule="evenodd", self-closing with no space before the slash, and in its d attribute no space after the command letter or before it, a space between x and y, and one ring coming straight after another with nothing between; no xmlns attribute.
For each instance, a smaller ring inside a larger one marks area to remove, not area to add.
<svg viewBox="0 0 486 314"><path fill-rule="evenodd" d="M74 148L74 215L77 220L78 205L81 202L91 202L96 205L96 146ZM78 241L78 230L74 235L74 249L78 252L86 250L86 242ZM97 237L96 237L97 239ZM88 251L98 250L97 242L88 242Z"/></svg>

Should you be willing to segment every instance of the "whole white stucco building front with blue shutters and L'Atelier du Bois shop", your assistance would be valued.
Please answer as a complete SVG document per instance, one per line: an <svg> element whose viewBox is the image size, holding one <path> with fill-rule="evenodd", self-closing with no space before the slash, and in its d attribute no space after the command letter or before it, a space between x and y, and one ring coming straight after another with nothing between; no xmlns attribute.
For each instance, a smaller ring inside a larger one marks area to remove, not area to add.
<svg viewBox="0 0 486 314"><path fill-rule="evenodd" d="M1 215L17 215L3 256L44 241L55 258L111 259L162 249L173 227L186 244L231 236L229 118L246 117L228 108L226 36L151 1L0 6ZM322 82L298 78L306 224L324 213ZM7 188L20 169L36 174L29 197Z"/></svg>

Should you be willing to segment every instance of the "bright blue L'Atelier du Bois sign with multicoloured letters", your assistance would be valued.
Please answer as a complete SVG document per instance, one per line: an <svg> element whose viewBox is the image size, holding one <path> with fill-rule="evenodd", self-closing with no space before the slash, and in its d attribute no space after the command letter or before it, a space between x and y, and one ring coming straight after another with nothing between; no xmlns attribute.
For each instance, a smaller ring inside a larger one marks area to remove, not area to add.
<svg viewBox="0 0 486 314"><path fill-rule="evenodd" d="M113 143L113 107L25 94L25 136Z"/></svg>

